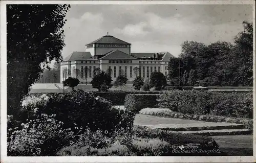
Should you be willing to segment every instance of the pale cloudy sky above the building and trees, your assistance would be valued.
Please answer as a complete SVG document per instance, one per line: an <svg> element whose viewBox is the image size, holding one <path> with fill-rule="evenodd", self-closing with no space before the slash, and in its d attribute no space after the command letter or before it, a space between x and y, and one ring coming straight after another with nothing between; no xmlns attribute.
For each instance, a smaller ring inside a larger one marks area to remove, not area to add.
<svg viewBox="0 0 256 163"><path fill-rule="evenodd" d="M66 15L62 56L84 51L109 35L132 43L131 52L169 52L178 57L181 44L233 42L252 22L251 5L71 5Z"/></svg>

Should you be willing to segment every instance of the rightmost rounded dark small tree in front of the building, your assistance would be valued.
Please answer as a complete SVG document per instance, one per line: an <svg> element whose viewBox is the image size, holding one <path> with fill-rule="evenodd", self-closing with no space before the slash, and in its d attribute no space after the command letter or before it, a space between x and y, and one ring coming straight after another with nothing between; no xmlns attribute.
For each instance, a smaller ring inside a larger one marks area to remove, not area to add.
<svg viewBox="0 0 256 163"><path fill-rule="evenodd" d="M150 87L161 90L167 84L165 76L160 72L153 72L150 76Z"/></svg>

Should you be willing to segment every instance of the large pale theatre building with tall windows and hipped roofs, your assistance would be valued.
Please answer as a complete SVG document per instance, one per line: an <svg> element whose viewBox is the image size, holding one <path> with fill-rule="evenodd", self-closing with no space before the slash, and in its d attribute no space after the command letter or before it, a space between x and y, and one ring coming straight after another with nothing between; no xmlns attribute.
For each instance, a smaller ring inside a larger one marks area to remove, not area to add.
<svg viewBox="0 0 256 163"><path fill-rule="evenodd" d="M128 79L127 83L141 76L150 77L152 72L167 75L169 52L131 53L131 43L105 35L86 44L84 52L73 52L60 63L60 82L68 77L76 77L80 83L90 83L99 71L108 72L112 80L119 75Z"/></svg>

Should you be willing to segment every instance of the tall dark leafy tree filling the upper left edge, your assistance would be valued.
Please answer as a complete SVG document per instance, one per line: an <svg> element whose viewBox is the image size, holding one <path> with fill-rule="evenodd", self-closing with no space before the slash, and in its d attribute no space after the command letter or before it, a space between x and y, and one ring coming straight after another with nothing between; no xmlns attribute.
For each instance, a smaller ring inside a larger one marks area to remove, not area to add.
<svg viewBox="0 0 256 163"><path fill-rule="evenodd" d="M61 61L63 25L70 5L7 5L8 114L52 60ZM18 74L18 75L17 75Z"/></svg>

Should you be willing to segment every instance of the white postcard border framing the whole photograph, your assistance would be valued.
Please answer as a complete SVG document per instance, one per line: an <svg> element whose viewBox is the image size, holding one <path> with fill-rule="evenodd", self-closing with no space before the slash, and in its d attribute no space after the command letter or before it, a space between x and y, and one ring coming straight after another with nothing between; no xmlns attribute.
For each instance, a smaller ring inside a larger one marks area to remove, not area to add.
<svg viewBox="0 0 256 163"><path fill-rule="evenodd" d="M206 5L206 4L251 4L253 5L253 40L255 41L255 2L254 1L0 1L1 3L1 162L255 162L256 161L256 125L253 118L253 156L60 156L60 157L7 157L7 66L6 66L6 4L70 4L70 5L96 5L96 4L122 4L122 5ZM255 110L255 42L253 43L253 114Z"/></svg>

